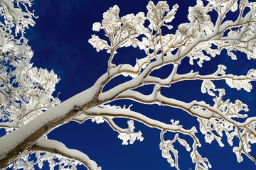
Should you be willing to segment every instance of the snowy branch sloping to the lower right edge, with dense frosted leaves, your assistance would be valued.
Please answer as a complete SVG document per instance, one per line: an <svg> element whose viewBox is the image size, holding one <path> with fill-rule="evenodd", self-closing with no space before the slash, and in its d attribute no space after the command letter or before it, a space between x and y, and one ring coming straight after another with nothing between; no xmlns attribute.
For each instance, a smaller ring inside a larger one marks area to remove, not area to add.
<svg viewBox="0 0 256 170"><path fill-rule="evenodd" d="M191 103L184 103L182 101L177 101L173 98L166 98L161 94L154 94L153 91L150 95L144 95L137 91L127 91L119 96L119 99L126 98L132 99L140 103L147 104L158 104L160 106L170 106L174 108L181 108L183 111L198 117L198 122L200 123L200 130L205 135L206 142L211 143L216 140L220 147L223 147L223 142L221 142L221 137L223 137L223 132L228 137L228 143L233 145L233 137L238 137L240 142L243 144L245 149L240 149L240 154L244 153L255 162L255 159L249 154L250 145L249 143L255 143L256 131L255 131L255 118L251 118L250 121L245 121L244 123L236 122L233 117L246 118L247 115L240 115L239 112L247 110L247 106L240 101L236 103L229 103L229 101L222 101L225 92L220 90L220 97L214 99L215 106L209 106L205 102L192 101ZM154 97L152 97L154 96ZM213 133L213 131L218 133L218 136ZM245 133L250 135L250 138L245 138ZM242 137L241 137L242 135ZM234 147L235 148L235 147ZM247 148L247 149L246 149Z"/></svg>

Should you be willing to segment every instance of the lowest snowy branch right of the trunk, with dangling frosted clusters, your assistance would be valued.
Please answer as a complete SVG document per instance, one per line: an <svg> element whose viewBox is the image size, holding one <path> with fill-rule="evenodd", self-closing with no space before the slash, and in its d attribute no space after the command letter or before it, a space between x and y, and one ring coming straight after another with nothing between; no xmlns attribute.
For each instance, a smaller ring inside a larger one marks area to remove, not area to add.
<svg viewBox="0 0 256 170"><path fill-rule="evenodd" d="M112 120L111 118L132 118L133 120L137 120L141 123L144 123L144 125L147 125L149 127L158 128L159 130L161 130L160 149L162 150L162 155L164 158L167 159L167 161L171 164L171 166L175 165L177 169L178 169L178 151L176 149L174 149L174 146L171 144L174 143L176 140L178 140L178 142L181 145L186 147L188 152L191 150L191 148L189 147L188 143L185 140L178 137L178 133L176 133L174 140L164 141L164 138L162 137L164 132L179 132L181 134L188 135L188 136L192 137L192 139L194 141L194 145L193 145L193 152L191 152L191 154L193 154L193 157L201 157L201 155L197 151L197 147L201 147L201 143L199 142L198 138L195 135L195 133L197 132L195 127L191 128L190 130L185 130L182 128L182 125L178 125L178 121L171 120L171 124L166 124L166 123L162 123L157 120L153 120L151 118L147 118L145 115L142 115L140 113L136 113L134 111L127 111L122 108L118 108L118 109L117 108L107 108L107 109L90 108L85 111L85 114L87 116L104 116L107 119L107 121ZM124 134L124 133L127 134L127 132L125 132L126 130L120 129L119 127L117 127L117 125L115 125L115 124L112 125L112 123L109 123L109 124L110 124L110 126L112 126L112 128L114 130L119 131L119 133L121 131L122 132L121 134ZM132 127L132 129L134 128L133 121L132 122L128 121L128 125L129 125L129 129L131 127ZM125 135L125 136L127 137L127 135ZM136 136L134 136L133 141L135 139L136 139ZM122 139L122 140L124 140L124 139ZM129 137L125 138L125 140L123 142L124 145L127 145L127 140L130 140L130 138ZM174 154L174 156L176 157L175 161L171 158L171 154L169 154L169 152L172 152ZM204 162L208 162L208 161L206 161L207 159L203 159L202 157L201 157L201 159L196 158L195 159L196 164L201 164L201 162L203 162L203 164L205 164ZM208 164L208 166L206 166L206 167L210 167L210 164Z"/></svg>

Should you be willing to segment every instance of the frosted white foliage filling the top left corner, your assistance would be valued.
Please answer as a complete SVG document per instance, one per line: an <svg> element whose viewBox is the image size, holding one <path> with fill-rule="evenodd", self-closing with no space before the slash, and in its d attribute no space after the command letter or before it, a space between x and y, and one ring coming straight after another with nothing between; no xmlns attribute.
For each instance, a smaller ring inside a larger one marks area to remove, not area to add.
<svg viewBox="0 0 256 170"><path fill-rule="evenodd" d="M18 53L23 50L21 44L26 45L23 34L29 26L34 26L35 18L31 12L31 0L1 0L0 1L0 52L10 50ZM17 36L18 35L18 36ZM22 41L25 43L21 43ZM16 51L18 50L18 51ZM25 49L24 49L25 50ZM28 53L29 56L29 53Z"/></svg>

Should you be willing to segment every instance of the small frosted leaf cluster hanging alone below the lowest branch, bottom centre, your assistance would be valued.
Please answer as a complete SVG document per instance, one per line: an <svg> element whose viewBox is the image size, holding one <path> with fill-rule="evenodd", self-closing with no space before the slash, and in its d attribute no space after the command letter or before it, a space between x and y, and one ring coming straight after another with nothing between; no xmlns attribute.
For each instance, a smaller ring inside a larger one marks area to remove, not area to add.
<svg viewBox="0 0 256 170"><path fill-rule="evenodd" d="M127 132L119 132L118 138L122 140L122 145L128 145L133 144L135 140L143 141L144 138L142 137L142 132L134 132L134 121L133 120L128 120L128 129Z"/></svg>

